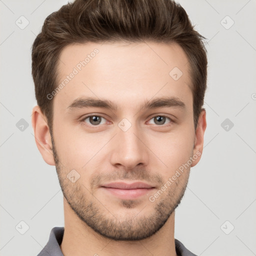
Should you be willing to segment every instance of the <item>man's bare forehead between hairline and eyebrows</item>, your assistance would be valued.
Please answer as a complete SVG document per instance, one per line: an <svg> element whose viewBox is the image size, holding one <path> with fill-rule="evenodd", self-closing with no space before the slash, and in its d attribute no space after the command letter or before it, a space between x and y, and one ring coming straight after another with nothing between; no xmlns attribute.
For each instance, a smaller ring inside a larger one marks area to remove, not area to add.
<svg viewBox="0 0 256 256"><path fill-rule="evenodd" d="M191 99L189 63L175 43L88 42L64 47L58 61L54 105L66 108L81 96L108 98L117 104L157 96ZM186 98L187 97L187 98ZM190 100L191 101L191 100Z"/></svg>

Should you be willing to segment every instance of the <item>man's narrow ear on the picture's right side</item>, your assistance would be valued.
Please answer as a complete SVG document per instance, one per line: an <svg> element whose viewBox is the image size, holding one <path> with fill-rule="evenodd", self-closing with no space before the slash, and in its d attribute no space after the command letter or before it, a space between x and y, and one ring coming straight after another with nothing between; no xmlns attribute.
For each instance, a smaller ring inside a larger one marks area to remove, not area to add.
<svg viewBox="0 0 256 256"><path fill-rule="evenodd" d="M194 136L193 155L196 155L197 158L192 161L191 167L196 165L201 158L202 148L203 148L203 136L204 136L205 129L206 129L206 111L203 108L198 117L197 126L195 129L195 136Z"/></svg>

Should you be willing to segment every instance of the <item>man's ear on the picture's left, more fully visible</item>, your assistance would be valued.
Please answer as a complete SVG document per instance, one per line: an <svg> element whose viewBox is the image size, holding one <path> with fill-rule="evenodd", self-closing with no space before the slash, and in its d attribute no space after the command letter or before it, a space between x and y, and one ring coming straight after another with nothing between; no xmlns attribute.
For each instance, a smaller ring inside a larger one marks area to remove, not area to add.
<svg viewBox="0 0 256 256"><path fill-rule="evenodd" d="M49 165L55 165L53 152L51 149L52 144L49 127L46 117L41 112L38 105L34 106L32 109L31 122L34 130L35 143L42 155L42 158Z"/></svg>

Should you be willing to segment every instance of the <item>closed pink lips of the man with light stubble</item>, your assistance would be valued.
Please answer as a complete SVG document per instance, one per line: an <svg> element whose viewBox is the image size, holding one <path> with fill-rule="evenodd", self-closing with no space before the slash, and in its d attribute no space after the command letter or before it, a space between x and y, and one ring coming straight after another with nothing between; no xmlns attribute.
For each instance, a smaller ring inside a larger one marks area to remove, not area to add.
<svg viewBox="0 0 256 256"><path fill-rule="evenodd" d="M148 194L155 187L144 182L112 182L101 186L106 192L121 199L134 199Z"/></svg>

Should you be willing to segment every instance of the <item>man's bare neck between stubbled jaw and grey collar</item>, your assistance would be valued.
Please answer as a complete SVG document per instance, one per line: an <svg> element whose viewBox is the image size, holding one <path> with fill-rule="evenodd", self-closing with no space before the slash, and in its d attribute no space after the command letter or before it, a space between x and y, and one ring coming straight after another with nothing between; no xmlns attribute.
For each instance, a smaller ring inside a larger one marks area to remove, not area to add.
<svg viewBox="0 0 256 256"><path fill-rule="evenodd" d="M64 256L169 255L176 256L173 212L160 230L138 241L106 238L82 222L64 199L64 235L60 249Z"/></svg>

